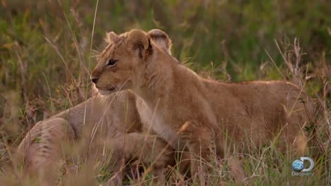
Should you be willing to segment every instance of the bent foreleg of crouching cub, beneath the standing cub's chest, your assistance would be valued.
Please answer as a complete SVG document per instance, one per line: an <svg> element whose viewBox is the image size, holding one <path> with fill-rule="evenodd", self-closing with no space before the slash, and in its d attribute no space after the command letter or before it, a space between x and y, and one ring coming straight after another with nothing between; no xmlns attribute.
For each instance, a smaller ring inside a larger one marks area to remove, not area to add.
<svg viewBox="0 0 331 186"><path fill-rule="evenodd" d="M108 149L112 151L110 167L118 172L114 179L121 180L123 176L122 163L138 161L153 170L154 176L162 177L168 165L174 165L174 150L157 136L141 133L130 133L117 138L108 139Z"/></svg>

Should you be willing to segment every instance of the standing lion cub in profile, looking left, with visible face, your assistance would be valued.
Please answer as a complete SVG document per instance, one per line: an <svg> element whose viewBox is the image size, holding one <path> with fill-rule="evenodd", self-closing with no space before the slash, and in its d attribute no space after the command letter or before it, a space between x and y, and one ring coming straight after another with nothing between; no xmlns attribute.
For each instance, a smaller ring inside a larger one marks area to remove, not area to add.
<svg viewBox="0 0 331 186"><path fill-rule="evenodd" d="M175 149L188 147L192 174L200 158L210 161L212 152L222 157L234 142L258 146L277 138L291 148L306 135L312 100L291 83L203 79L141 30L111 32L109 38L91 75L95 86L101 94L126 89L137 94L141 121Z"/></svg>

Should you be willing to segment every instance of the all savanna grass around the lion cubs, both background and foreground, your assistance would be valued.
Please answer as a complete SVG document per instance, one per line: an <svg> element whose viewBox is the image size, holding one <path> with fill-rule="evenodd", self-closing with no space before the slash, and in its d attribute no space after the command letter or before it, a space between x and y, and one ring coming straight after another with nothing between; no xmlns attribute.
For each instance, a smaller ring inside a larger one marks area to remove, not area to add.
<svg viewBox="0 0 331 186"><path fill-rule="evenodd" d="M301 147L312 176L292 176L300 156L270 141L195 178L173 170L177 185L331 185L331 1L1 0L0 16L0 185L43 185L26 176L15 149L35 123L90 97L106 32L132 28L165 31L172 55L205 78L290 81L320 105L305 127L314 143ZM56 185L106 185L106 162L86 162L71 147ZM168 184L143 176L123 183Z"/></svg>

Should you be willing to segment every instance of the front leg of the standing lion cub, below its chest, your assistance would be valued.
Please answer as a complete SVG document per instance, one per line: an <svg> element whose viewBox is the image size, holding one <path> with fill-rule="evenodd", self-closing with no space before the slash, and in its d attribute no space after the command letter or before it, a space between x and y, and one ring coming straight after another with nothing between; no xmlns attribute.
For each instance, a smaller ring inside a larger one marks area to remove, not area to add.
<svg viewBox="0 0 331 186"><path fill-rule="evenodd" d="M214 147L214 130L212 127L201 125L200 123L189 121L183 125L181 130L181 140L185 141L190 152L191 175L197 174L199 169L205 167L206 162L211 161Z"/></svg>

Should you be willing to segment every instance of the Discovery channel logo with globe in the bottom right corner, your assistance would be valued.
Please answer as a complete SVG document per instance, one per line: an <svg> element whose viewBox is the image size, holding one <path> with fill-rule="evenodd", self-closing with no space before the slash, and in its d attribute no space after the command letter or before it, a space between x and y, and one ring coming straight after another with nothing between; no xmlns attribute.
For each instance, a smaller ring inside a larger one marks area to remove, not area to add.
<svg viewBox="0 0 331 186"><path fill-rule="evenodd" d="M305 162L309 161L310 166L305 169ZM314 172L310 172L314 168L314 161L310 157L301 157L299 160L292 163L292 176L314 176Z"/></svg>

